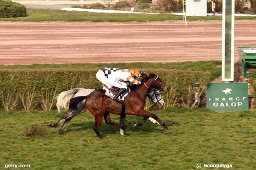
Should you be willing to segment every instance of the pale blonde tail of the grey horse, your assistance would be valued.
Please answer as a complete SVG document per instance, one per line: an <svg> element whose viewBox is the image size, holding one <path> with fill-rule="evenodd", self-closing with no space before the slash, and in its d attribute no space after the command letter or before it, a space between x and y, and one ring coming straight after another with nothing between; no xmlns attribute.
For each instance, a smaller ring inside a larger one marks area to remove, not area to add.
<svg viewBox="0 0 256 170"><path fill-rule="evenodd" d="M61 112L61 109L68 110L69 109L69 101L74 97L74 95L79 91L80 89L71 89L68 91L62 91L55 97L57 99L56 106L58 108L58 112Z"/></svg>

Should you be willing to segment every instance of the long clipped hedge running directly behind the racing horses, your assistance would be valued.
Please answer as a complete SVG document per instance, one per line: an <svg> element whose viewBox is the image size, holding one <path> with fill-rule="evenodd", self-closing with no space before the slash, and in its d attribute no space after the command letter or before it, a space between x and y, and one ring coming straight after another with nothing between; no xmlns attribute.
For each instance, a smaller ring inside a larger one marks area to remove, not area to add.
<svg viewBox="0 0 256 170"><path fill-rule="evenodd" d="M5 110L35 108L51 110L54 97L72 88L102 88L95 75L98 69L50 70L0 70L0 105ZM166 106L197 107L209 81L210 73L172 69L142 70L156 73L169 85L170 91L162 93Z"/></svg>

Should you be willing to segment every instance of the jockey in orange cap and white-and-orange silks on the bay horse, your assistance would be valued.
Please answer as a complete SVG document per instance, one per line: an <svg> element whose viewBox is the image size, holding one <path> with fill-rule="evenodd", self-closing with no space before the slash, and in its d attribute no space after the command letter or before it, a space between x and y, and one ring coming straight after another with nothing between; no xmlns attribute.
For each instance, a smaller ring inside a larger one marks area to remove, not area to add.
<svg viewBox="0 0 256 170"><path fill-rule="evenodd" d="M141 84L140 81L135 80L136 77L139 78L139 71L137 69L121 69L108 76L108 84L120 88L117 95L113 98L114 101L126 91L127 84L124 81L129 81L136 85Z"/></svg>

